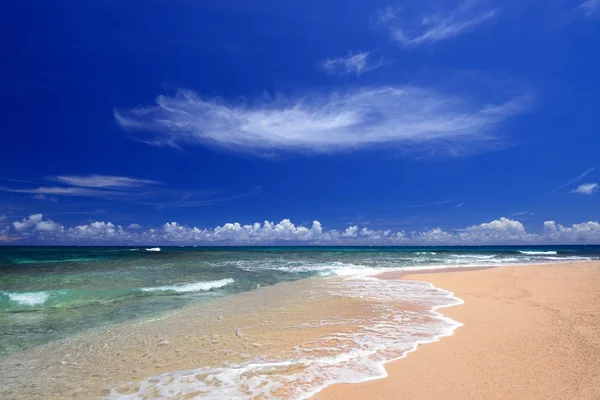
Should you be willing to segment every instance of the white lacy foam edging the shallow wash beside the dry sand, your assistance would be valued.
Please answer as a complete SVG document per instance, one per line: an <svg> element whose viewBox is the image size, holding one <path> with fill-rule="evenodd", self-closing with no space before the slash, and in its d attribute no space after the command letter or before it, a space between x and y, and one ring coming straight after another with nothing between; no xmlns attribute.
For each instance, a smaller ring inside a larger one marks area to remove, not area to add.
<svg viewBox="0 0 600 400"><path fill-rule="evenodd" d="M451 292L426 282L369 277L372 269L362 266L336 267L340 275L326 278L327 293L359 298L369 310L360 320L336 319L336 325L352 329L320 336L277 355L149 377L123 390L113 388L109 397L307 399L335 383L383 378L385 363L405 357L420 344L452 335L461 326L436 311L462 303ZM132 387L134 393L125 393Z"/></svg>

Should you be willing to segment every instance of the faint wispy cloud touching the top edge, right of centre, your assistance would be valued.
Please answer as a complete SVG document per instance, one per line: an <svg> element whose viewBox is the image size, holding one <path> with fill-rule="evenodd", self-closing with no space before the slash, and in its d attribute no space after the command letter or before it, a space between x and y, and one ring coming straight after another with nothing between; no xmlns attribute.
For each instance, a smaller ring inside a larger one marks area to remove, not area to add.
<svg viewBox="0 0 600 400"><path fill-rule="evenodd" d="M387 8L377 14L376 24L390 31L392 40L406 47L430 44L454 38L491 20L498 10L486 7L486 2L473 0L454 3L451 9L415 10L415 6Z"/></svg>

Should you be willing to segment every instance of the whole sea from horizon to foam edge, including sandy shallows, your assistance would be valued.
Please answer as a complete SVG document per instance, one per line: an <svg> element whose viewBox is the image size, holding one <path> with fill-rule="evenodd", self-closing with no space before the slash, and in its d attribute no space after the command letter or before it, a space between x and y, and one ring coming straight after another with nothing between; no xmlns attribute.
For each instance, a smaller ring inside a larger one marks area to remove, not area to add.
<svg viewBox="0 0 600 400"><path fill-rule="evenodd" d="M48 393L43 373L26 393L14 371L53 366L57 391L89 398L307 398L460 326L436 311L452 293L377 274L595 259L600 246L0 247L0 394Z"/></svg>

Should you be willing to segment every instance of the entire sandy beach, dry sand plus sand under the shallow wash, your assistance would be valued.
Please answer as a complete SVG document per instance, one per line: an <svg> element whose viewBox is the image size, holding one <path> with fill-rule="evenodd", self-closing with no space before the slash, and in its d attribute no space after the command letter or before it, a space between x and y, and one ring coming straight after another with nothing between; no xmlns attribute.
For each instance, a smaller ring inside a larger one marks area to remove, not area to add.
<svg viewBox="0 0 600 400"><path fill-rule="evenodd" d="M283 282L38 346L1 360L0 397L600 398L600 262L378 277ZM373 348L407 356L352 357ZM306 359L325 361L286 363ZM234 384L205 379L231 368Z"/></svg>

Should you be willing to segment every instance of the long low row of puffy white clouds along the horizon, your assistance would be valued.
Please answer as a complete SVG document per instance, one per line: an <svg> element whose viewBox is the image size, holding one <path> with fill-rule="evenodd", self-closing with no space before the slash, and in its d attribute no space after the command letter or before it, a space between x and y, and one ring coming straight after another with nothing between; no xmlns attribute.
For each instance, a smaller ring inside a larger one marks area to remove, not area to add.
<svg viewBox="0 0 600 400"><path fill-rule="evenodd" d="M546 221L541 232L528 232L525 226L509 218L472 225L464 229L444 230L436 227L424 231L393 231L350 226L344 230L325 229L319 221L310 226L295 225L289 219L278 223L226 223L214 228L198 228L167 222L159 228L142 229L136 225L123 228L111 222L96 221L66 228L33 214L13 223L14 235L5 230L3 237L45 244L373 244L373 245L468 245L468 244L536 244L600 243L600 224L589 221L563 226Z"/></svg>

